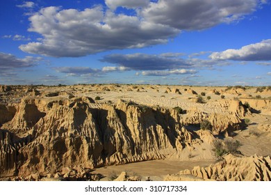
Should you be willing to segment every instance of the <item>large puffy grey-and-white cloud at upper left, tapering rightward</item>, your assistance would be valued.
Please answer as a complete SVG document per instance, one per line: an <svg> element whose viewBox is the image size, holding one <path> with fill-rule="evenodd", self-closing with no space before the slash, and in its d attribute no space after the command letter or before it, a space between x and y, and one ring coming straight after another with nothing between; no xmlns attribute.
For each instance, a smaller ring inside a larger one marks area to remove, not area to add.
<svg viewBox="0 0 271 195"><path fill-rule="evenodd" d="M85 10L42 8L29 18L28 31L40 33L40 42L19 48L45 56L85 56L112 49L140 48L167 42L178 29L141 20L137 16L117 15L101 6Z"/></svg>

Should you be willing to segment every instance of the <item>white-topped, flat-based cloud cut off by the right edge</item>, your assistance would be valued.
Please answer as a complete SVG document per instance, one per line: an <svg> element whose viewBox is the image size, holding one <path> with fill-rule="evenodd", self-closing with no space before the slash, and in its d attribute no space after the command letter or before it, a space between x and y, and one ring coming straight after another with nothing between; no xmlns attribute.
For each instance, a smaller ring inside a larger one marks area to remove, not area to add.
<svg viewBox="0 0 271 195"><path fill-rule="evenodd" d="M211 59L233 61L270 61L271 39L263 40L241 49L227 49L224 52L214 52Z"/></svg>

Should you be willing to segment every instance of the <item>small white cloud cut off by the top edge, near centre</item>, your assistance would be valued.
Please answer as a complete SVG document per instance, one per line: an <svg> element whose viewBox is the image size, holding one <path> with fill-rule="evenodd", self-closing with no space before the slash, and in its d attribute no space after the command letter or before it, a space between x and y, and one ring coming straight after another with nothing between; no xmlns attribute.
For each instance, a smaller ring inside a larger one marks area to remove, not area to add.
<svg viewBox="0 0 271 195"><path fill-rule="evenodd" d="M106 0L106 6L110 9L115 10L117 7L124 8L139 8L148 5L149 0L137 0L137 1L127 1L127 0Z"/></svg>

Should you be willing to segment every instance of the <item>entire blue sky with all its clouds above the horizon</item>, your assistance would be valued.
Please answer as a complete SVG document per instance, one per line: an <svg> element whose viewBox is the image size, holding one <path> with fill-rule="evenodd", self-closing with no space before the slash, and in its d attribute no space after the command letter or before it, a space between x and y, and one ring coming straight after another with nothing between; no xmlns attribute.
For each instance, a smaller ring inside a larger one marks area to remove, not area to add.
<svg viewBox="0 0 271 195"><path fill-rule="evenodd" d="M0 84L271 85L268 0L0 1Z"/></svg>

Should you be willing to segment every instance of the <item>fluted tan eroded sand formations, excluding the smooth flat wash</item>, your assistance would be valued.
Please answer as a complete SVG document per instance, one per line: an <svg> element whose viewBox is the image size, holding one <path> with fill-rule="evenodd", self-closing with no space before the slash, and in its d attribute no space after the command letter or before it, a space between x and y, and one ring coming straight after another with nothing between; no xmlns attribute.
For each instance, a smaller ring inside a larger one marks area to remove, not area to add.
<svg viewBox="0 0 271 195"><path fill-rule="evenodd" d="M195 102L201 91L211 100ZM226 98L216 95L218 91ZM268 91L258 99L240 98L240 94L249 96L245 90L232 91L227 91L227 97L224 88L184 86L1 86L0 176L98 180L90 169L154 159L213 159L211 149L217 137L232 137L244 130L246 117L271 114ZM204 120L211 123L210 130L200 130ZM269 119L258 127L271 132ZM224 164L206 168L207 176L196 168L185 173L204 180L270 180L270 157L269 161L268 157L239 158L225 158ZM251 158L267 162L261 164L264 177L256 174L261 170L243 176L227 168L233 162L252 162ZM218 172L212 171L218 166Z"/></svg>

